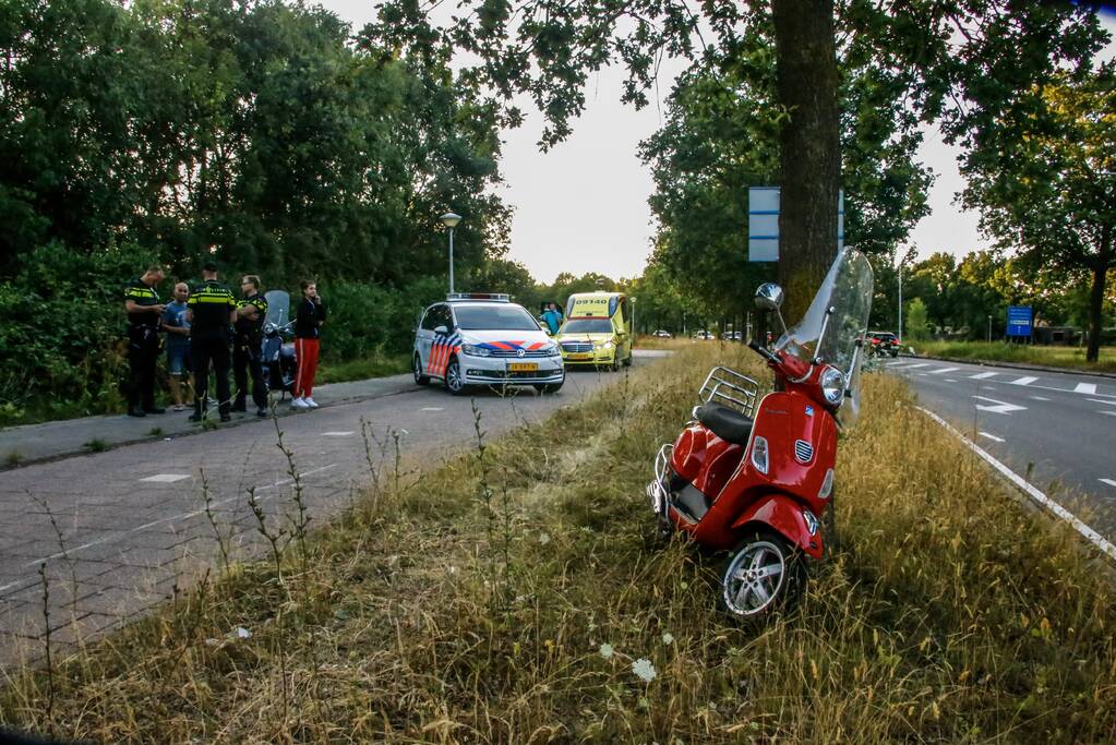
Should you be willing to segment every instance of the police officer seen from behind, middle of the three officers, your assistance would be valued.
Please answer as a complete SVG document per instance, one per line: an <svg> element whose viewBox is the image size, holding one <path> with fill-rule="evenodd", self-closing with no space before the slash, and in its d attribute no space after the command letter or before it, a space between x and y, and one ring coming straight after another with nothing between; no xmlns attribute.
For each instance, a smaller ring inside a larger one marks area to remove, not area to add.
<svg viewBox="0 0 1116 745"><path fill-rule="evenodd" d="M194 364L194 413L201 422L209 405L209 369L217 376L218 410L229 416L229 327L237 321L237 299L232 290L217 281L217 264L202 267L202 283L186 301L190 320L190 357Z"/></svg>

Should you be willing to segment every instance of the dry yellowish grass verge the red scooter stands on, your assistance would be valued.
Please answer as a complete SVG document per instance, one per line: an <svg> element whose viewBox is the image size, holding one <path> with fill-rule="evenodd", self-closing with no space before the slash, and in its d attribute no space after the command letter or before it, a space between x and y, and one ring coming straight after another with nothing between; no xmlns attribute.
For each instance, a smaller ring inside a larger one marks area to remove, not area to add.
<svg viewBox="0 0 1116 745"><path fill-rule="evenodd" d="M328 530L296 517L282 553L18 676L0 720L161 743L1116 737L1110 587L891 377L866 376L841 548L802 606L758 629L713 610L720 558L656 539L643 487L711 365L759 373L745 351L691 345L437 471L379 468Z"/></svg>

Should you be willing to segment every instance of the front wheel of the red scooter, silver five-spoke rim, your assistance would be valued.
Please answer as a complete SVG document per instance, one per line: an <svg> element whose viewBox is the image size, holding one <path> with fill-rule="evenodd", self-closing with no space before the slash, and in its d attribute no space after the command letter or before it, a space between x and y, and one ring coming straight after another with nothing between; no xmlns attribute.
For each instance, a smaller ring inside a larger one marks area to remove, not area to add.
<svg viewBox="0 0 1116 745"><path fill-rule="evenodd" d="M792 608L805 589L801 553L781 535L760 531L744 539L725 562L719 604L738 620L761 620Z"/></svg>

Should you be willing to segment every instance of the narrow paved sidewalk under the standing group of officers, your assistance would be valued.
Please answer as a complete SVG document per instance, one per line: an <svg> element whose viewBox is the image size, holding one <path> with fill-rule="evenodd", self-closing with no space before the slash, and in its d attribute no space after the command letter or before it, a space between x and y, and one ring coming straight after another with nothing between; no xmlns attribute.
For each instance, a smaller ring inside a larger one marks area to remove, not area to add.
<svg viewBox="0 0 1116 745"><path fill-rule="evenodd" d="M321 407L327 407L392 396L413 388L414 381L411 375L393 375L386 378L317 386L314 389L314 399ZM279 403L277 396L273 398L277 401L276 413L279 416L297 414L289 406L289 396L282 403ZM201 424L187 420L186 417L192 413L192 410L172 412L169 408L166 414L148 415L143 418L109 414L0 429L0 471L13 465L28 465L66 455L92 453L117 445L170 439L203 432ZM210 416L215 420L217 412L211 410ZM233 414L232 422L220 426L225 428L257 419L253 406L248 414Z"/></svg>

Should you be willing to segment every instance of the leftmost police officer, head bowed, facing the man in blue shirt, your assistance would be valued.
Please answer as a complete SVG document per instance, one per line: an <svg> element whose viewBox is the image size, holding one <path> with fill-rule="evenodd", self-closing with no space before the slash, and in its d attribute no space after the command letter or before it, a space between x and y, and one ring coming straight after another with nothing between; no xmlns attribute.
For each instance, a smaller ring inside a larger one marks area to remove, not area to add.
<svg viewBox="0 0 1116 745"><path fill-rule="evenodd" d="M128 416L163 414L155 406L155 362L158 360L158 327L163 306L155 286L163 269L150 267L143 277L124 288L124 310L128 313Z"/></svg>

